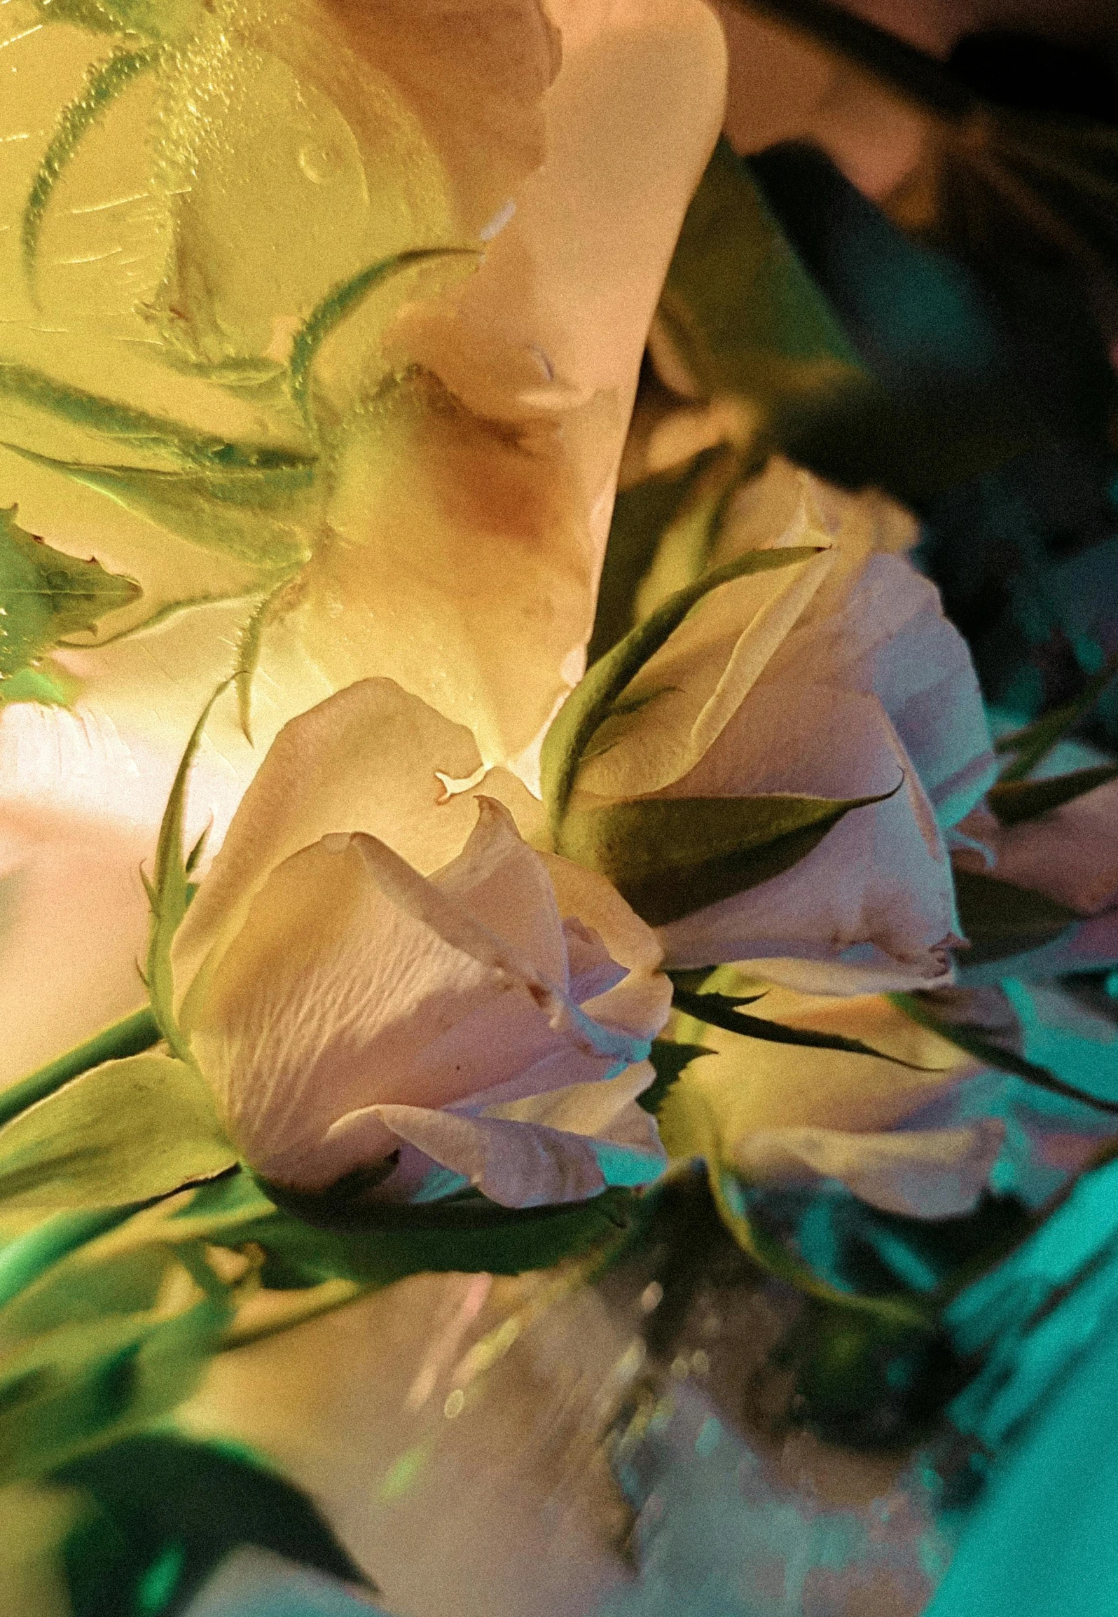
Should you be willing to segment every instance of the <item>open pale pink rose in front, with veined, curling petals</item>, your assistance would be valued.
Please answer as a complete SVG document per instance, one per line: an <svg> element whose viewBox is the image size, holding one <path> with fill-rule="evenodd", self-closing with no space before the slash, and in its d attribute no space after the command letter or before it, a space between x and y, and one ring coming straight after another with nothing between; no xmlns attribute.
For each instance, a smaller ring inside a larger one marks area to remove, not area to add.
<svg viewBox="0 0 1118 1617"><path fill-rule="evenodd" d="M533 1206L661 1172L635 1104L670 1001L656 938L498 800L436 804L472 745L388 681L292 720L187 912L181 1032L271 1184L385 1164L393 1197Z"/></svg>

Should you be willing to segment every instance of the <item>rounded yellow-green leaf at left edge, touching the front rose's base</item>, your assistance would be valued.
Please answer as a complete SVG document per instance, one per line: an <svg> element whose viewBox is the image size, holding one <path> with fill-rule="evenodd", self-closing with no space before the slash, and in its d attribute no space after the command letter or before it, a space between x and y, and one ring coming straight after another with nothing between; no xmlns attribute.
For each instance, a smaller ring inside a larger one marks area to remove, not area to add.
<svg viewBox="0 0 1118 1617"><path fill-rule="evenodd" d="M205 1080L171 1056L110 1061L0 1129L0 1211L147 1201L237 1156Z"/></svg>

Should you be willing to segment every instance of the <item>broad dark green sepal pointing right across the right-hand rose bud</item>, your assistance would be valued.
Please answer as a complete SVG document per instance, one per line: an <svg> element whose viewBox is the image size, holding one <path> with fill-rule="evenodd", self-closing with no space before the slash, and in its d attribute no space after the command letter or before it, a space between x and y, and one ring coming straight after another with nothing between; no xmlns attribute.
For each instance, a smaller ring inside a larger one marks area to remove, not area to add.
<svg viewBox="0 0 1118 1617"><path fill-rule="evenodd" d="M882 797L640 797L567 813L556 851L607 876L649 927L666 927L782 875L851 808L876 802Z"/></svg>

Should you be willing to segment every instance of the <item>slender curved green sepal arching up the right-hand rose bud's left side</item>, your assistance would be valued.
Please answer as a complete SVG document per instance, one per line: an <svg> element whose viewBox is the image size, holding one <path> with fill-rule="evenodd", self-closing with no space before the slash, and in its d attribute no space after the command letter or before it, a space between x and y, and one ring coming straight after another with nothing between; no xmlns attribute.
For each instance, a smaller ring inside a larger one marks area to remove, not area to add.
<svg viewBox="0 0 1118 1617"><path fill-rule="evenodd" d="M771 572L811 561L819 553L814 545L795 545L782 550L750 550L722 568L696 579L687 589L677 590L651 618L638 624L611 652L607 652L570 692L559 708L543 742L540 778L543 800L548 805L551 833L559 846L561 828L575 778L595 731L609 718L611 708L625 686L637 676L654 652L687 618L691 606L711 590L732 579L753 572Z"/></svg>

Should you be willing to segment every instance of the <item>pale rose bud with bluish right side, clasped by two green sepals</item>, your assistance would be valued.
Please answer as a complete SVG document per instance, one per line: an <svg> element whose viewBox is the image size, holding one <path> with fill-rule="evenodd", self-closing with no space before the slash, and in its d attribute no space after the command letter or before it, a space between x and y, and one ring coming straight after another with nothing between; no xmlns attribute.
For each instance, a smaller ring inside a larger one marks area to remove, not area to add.
<svg viewBox="0 0 1118 1617"><path fill-rule="evenodd" d="M903 556L832 540L809 482L767 555L785 548L800 550L793 564L703 595L616 694L557 846L659 925L672 965L742 960L822 991L944 983L958 941L944 830L994 778L969 653ZM753 555L766 550L742 545L738 561ZM662 901L656 862L669 865L675 849L656 846L661 821L674 812L701 851L703 826L729 825L730 800L753 797L775 797L774 813L788 799L806 800L806 813L814 800L816 831L832 828L764 880L719 867L735 857L725 831L704 875L696 865L688 886L680 865ZM837 823L824 813L827 802L868 797L881 800L837 808Z"/></svg>

